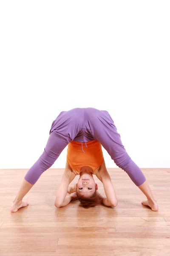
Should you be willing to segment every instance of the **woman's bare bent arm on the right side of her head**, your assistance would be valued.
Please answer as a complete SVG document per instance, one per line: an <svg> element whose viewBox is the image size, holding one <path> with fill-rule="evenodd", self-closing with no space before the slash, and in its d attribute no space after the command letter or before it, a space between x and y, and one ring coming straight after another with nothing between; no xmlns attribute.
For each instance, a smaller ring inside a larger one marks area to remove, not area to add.
<svg viewBox="0 0 170 256"><path fill-rule="evenodd" d="M102 203L105 204L106 206L116 207L116 193L111 182L111 177L106 169L105 161L103 161L102 165L99 168L99 171L96 173L96 176L103 183L103 187L106 194L106 198L102 199Z"/></svg>

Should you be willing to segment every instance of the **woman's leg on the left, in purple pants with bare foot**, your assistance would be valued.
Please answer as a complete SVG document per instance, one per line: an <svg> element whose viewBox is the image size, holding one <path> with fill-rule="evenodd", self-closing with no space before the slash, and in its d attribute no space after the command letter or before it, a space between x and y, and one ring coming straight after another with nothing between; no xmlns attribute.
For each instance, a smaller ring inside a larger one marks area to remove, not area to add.
<svg viewBox="0 0 170 256"><path fill-rule="evenodd" d="M71 140L73 140L79 133L82 124L79 121L79 116L75 112L78 111L75 109L64 112L53 122L51 126L53 127L53 130L50 130L50 136L48 138L47 145L44 148L44 152L26 173L25 179L23 180L20 190L14 200L14 204L11 207L11 212L16 212L21 207L27 205L22 202L23 197L37 182L42 173L54 164L68 143L71 142Z"/></svg>

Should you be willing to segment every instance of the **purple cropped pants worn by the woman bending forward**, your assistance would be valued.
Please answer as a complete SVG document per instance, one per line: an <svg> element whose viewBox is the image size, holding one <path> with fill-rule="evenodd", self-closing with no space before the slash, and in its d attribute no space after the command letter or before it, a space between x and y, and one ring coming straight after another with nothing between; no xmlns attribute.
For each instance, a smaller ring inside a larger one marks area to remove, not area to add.
<svg viewBox="0 0 170 256"><path fill-rule="evenodd" d="M36 183L40 175L54 164L62 150L73 140L81 143L98 140L136 186L142 185L146 180L122 145L108 111L95 108L74 108L57 116L51 125L50 136L42 155L28 170L25 179L31 184Z"/></svg>

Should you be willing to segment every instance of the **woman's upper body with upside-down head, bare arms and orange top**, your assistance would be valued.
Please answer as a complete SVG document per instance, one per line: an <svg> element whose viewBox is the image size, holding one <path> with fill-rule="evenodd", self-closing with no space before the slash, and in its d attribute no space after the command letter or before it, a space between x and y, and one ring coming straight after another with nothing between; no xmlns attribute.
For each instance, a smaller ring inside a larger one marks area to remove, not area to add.
<svg viewBox="0 0 170 256"><path fill-rule="evenodd" d="M84 208L94 207L101 203L116 207L117 198L105 166L101 144L97 140L90 141L85 144L87 147L85 152L82 151L81 144L75 141L68 144L65 172L59 185L55 206L63 207L78 198ZM88 166L86 166L87 163ZM78 183L68 191L68 185L76 175L80 175ZM102 181L106 198L97 192L98 187L93 175ZM67 192L76 193L66 196Z"/></svg>

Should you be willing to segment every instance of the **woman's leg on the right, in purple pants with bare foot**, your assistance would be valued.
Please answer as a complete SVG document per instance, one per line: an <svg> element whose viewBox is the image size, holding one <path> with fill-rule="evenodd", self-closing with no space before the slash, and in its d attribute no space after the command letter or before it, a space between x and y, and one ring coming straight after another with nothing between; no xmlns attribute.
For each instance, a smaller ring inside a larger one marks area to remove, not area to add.
<svg viewBox="0 0 170 256"><path fill-rule="evenodd" d="M89 108L85 112L85 118L86 128L102 144L106 151L108 151L108 154L110 154L116 165L127 172L130 179L148 197L147 199L149 201L155 201L149 186L145 182L146 178L144 174L131 160L122 145L120 135L109 113L107 111Z"/></svg>

